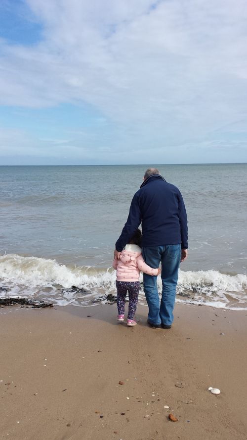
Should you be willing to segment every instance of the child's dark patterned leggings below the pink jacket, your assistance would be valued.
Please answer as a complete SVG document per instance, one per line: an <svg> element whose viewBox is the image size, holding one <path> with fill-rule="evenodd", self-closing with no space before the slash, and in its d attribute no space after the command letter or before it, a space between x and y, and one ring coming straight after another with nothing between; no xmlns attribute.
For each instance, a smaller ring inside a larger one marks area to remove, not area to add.
<svg viewBox="0 0 247 440"><path fill-rule="evenodd" d="M125 298L128 292L128 319L133 319L137 308L140 281L116 281L116 287L119 315L124 315Z"/></svg>

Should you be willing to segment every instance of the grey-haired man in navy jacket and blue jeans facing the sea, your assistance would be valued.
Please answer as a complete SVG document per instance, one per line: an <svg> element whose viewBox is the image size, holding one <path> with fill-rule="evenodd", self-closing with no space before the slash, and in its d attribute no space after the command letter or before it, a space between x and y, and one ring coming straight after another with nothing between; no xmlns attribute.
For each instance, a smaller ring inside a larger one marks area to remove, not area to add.
<svg viewBox="0 0 247 440"><path fill-rule="evenodd" d="M155 329L170 329L180 261L188 256L187 216L182 195L167 183L157 168L148 168L144 181L132 199L122 234L116 242L115 258L142 223L142 255L149 266L162 265L162 298L157 277L143 274L144 292L149 307L148 324Z"/></svg>

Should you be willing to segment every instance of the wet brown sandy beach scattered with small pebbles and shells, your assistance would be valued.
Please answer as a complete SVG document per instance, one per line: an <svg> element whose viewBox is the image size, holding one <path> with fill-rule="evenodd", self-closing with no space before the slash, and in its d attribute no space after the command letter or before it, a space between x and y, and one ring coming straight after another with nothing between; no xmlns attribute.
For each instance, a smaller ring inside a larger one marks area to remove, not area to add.
<svg viewBox="0 0 247 440"><path fill-rule="evenodd" d="M246 311L176 305L171 330L145 306L135 328L116 304L0 314L2 439L246 440Z"/></svg>

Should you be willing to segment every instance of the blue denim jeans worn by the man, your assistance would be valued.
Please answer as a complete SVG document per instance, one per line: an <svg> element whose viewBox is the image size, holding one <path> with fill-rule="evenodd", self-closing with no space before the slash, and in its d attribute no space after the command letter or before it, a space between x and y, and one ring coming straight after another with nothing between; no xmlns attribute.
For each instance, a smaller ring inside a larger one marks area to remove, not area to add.
<svg viewBox="0 0 247 440"><path fill-rule="evenodd" d="M142 255L151 268L158 268L160 263L162 266L161 303L157 289L157 276L143 274L144 292L149 307L148 321L151 324L170 326L173 323L181 245L143 247Z"/></svg>

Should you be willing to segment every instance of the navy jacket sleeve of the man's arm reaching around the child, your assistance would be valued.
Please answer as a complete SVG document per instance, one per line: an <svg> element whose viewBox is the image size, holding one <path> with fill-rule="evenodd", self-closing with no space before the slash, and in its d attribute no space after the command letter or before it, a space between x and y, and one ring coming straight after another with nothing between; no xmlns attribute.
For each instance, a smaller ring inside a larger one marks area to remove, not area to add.
<svg viewBox="0 0 247 440"><path fill-rule="evenodd" d="M141 209L140 209L139 197L137 192L135 193L132 199L127 221L115 245L118 252L123 251L124 246L129 242L134 231L138 228L140 223L141 223Z"/></svg>

